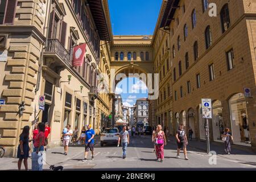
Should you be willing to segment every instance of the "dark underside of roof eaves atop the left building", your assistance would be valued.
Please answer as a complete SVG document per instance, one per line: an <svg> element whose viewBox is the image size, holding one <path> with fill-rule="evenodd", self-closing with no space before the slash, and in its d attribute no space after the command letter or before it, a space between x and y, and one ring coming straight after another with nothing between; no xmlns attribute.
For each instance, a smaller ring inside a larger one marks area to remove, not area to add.
<svg viewBox="0 0 256 182"><path fill-rule="evenodd" d="M101 0L87 0L101 40L110 40L108 25Z"/></svg>

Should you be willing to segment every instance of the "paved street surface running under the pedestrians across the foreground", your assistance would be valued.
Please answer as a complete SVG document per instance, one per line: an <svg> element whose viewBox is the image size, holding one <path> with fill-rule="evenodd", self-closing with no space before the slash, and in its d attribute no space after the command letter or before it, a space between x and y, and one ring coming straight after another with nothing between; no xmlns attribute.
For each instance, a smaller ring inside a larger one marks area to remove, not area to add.
<svg viewBox="0 0 256 182"><path fill-rule="evenodd" d="M224 155L221 145L212 146L212 150L216 150L216 163L214 158L207 155L204 151L196 148L200 142L191 142L193 146L188 146L188 158L184 160L181 153L181 159L176 159L176 143L174 138L164 147L164 162L156 161L155 154L152 151L151 137L131 137L130 145L127 149L127 158L122 159L122 147L113 144L100 146L99 138L96 138L96 146L94 148L94 160L90 159L82 162L84 159L84 147L71 146L67 156L63 155L62 147L50 148L46 153L48 164L55 166L63 166L64 170L212 170L212 169L229 169L229 170L256 170L256 155L250 151L233 150L233 155ZM206 143L203 143L206 144ZM235 154L236 153L236 154ZM209 159L210 163L209 164ZM0 170L16 170L18 160L15 158L0 159ZM48 164L44 165L44 169L48 170ZM28 167L31 169L31 159L28 159ZM22 169L23 166L22 166Z"/></svg>

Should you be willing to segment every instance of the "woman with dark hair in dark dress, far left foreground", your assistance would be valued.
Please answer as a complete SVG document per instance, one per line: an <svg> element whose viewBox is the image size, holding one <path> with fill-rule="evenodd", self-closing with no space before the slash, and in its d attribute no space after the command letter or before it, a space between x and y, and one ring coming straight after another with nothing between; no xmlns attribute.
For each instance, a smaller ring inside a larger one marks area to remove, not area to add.
<svg viewBox="0 0 256 182"><path fill-rule="evenodd" d="M31 140L29 140L29 135L30 135L30 127L24 126L22 133L19 135L19 146L17 151L17 158L19 159L18 161L19 171L21 169L23 159L24 159L25 170L28 171L27 159L30 152L30 147L28 146L28 143L31 142Z"/></svg>

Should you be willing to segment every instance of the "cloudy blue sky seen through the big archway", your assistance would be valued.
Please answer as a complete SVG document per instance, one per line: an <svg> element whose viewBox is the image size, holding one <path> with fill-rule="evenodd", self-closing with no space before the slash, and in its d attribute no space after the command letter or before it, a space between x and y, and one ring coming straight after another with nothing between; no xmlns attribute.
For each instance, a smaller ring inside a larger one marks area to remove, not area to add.
<svg viewBox="0 0 256 182"><path fill-rule="evenodd" d="M125 78L118 82L115 93L121 94L124 106L133 106L137 99L147 98L147 86L138 78Z"/></svg>

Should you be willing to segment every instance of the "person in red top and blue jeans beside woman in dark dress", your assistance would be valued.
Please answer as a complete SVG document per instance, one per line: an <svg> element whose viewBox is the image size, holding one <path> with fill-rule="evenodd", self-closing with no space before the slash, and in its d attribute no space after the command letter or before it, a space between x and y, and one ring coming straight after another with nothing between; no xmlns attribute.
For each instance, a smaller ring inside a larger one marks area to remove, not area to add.
<svg viewBox="0 0 256 182"><path fill-rule="evenodd" d="M38 134L34 140L34 149L32 154L32 171L43 171L43 163L39 163L39 156L42 156L46 142L46 125L38 123ZM39 154L40 152L40 154Z"/></svg>

